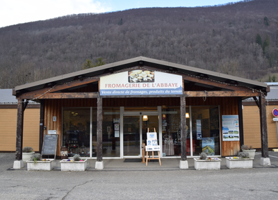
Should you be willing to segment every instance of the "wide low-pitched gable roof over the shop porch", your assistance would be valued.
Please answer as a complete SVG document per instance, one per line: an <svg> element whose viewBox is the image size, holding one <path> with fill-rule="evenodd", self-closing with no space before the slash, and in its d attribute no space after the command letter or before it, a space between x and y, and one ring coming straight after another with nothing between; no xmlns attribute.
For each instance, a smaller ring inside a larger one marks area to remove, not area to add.
<svg viewBox="0 0 278 200"><path fill-rule="evenodd" d="M246 78L240 78L237 76L231 76L227 74L221 74L218 72L212 72L206 69L199 69L196 67L189 67L186 65L179 65L176 63L170 63L163 60L156 60L146 57L136 57L128 60L122 60L116 63L110 63L106 65L101 65L99 67L93 67L90 69L84 69L78 72L72 72L70 74L63 74L61 76L56 76L53 78L47 78L41 81L36 81L33 83L27 83L24 85L19 85L15 87L15 92L24 93L31 92L34 90L39 90L44 88L46 85L55 85L60 83L67 83L74 81L79 78L101 76L102 74L107 74L109 72L117 72L122 69L138 66L156 67L163 71L174 71L181 74L188 74L190 76L197 76L200 78L208 78L211 81L216 81L220 83L234 84L247 88L253 88L255 90L261 90L262 92L268 92L268 85L258 81L252 81Z"/></svg>

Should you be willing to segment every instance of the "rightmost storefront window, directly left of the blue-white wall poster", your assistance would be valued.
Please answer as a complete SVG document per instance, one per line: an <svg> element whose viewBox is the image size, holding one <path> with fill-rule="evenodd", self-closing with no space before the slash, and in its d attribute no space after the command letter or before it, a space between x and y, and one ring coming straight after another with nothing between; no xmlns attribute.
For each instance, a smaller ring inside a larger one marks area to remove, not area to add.
<svg viewBox="0 0 278 200"><path fill-rule="evenodd" d="M209 156L220 155L218 106L192 106L193 156L202 151Z"/></svg>

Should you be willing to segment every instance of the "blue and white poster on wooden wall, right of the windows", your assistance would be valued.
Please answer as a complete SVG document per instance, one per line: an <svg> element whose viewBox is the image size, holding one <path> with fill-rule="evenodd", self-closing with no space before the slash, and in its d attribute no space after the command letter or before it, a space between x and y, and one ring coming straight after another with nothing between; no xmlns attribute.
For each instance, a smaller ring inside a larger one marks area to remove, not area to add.
<svg viewBox="0 0 278 200"><path fill-rule="evenodd" d="M239 141L238 115L222 115L223 141Z"/></svg>

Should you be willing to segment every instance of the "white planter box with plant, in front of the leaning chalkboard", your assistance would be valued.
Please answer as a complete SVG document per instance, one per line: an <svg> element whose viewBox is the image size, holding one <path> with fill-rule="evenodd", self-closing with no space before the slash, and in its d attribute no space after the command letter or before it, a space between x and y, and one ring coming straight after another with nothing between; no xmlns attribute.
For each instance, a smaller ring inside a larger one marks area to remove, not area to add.
<svg viewBox="0 0 278 200"><path fill-rule="evenodd" d="M26 163L27 170L50 171L54 168L54 159L42 159L40 153L35 153Z"/></svg>

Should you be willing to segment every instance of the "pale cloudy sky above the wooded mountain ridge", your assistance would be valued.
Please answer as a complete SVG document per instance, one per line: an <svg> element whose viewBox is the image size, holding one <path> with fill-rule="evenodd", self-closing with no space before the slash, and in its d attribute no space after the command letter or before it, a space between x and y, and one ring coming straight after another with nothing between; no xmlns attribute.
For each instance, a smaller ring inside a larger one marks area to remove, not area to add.
<svg viewBox="0 0 278 200"><path fill-rule="evenodd" d="M238 0L239 1L239 0ZM0 27L88 12L131 8L214 6L236 0L1 0Z"/></svg>

